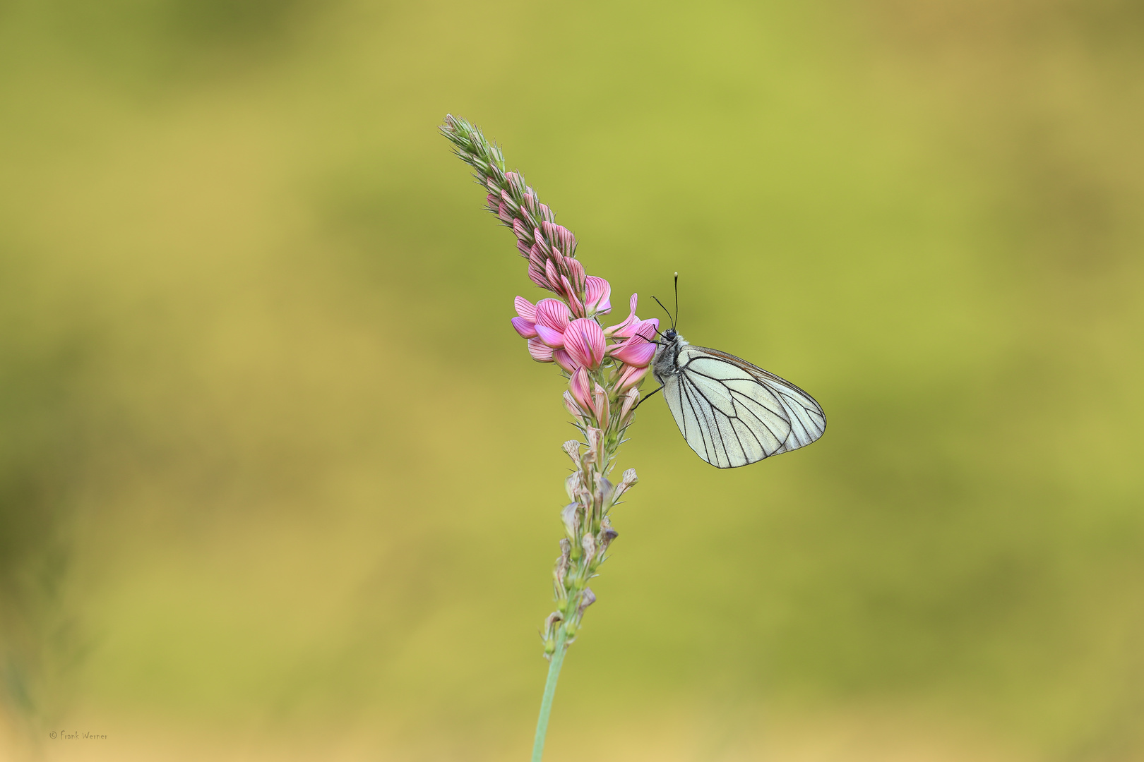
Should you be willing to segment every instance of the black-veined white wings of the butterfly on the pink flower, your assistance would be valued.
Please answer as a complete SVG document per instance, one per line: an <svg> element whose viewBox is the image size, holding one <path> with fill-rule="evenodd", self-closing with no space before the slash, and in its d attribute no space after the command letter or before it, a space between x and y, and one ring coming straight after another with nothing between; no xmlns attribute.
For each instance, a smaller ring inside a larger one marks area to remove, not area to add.
<svg viewBox="0 0 1144 762"><path fill-rule="evenodd" d="M686 345L664 384L667 407L691 449L720 468L810 444L826 430L812 396L746 360Z"/></svg>

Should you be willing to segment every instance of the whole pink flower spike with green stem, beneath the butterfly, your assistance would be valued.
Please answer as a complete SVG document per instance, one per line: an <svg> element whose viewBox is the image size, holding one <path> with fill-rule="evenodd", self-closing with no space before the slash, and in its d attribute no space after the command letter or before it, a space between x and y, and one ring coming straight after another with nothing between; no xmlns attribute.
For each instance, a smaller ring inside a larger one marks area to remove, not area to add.
<svg viewBox="0 0 1144 762"><path fill-rule="evenodd" d="M533 360L559 366L569 379L564 407L583 434L582 442L563 444L574 468L564 480L571 503L561 511L565 536L553 569L557 610L545 619L541 633L550 663L532 746L532 762L540 762L561 665L580 632L585 610L596 601L588 583L619 537L609 511L638 481L634 468L625 471L618 484L607 475L635 419L639 384L656 351L659 321L636 316L633 294L627 320L604 328L599 319L612 310L612 287L603 278L587 274L575 258L572 231L556 224L553 210L540 203L519 173L506 171L500 149L471 122L446 115L440 130L456 155L472 167L486 194L485 208L516 236L517 252L529 260L529 279L558 297L537 304L517 297L513 328L529 339Z"/></svg>

